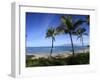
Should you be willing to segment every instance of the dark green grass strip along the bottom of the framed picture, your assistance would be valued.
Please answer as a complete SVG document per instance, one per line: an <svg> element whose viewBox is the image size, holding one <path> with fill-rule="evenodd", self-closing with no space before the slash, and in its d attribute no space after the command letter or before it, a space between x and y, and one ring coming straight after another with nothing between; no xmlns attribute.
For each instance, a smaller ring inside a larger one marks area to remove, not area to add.
<svg viewBox="0 0 100 80"><path fill-rule="evenodd" d="M89 64L89 53L79 53L71 55L67 58L39 58L31 59L31 56L26 57L26 67L35 66L60 66L60 65L81 65Z"/></svg>

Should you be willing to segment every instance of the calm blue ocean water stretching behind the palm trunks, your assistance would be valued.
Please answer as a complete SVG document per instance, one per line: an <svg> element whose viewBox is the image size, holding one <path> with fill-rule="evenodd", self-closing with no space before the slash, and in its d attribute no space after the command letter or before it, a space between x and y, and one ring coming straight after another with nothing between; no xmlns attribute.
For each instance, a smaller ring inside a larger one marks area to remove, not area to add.
<svg viewBox="0 0 100 80"><path fill-rule="evenodd" d="M88 48L87 46L74 46L74 50L82 50ZM51 50L51 47L26 47L26 54L49 54ZM53 53L61 53L61 52L71 52L72 48L71 46L55 46L53 48Z"/></svg>

